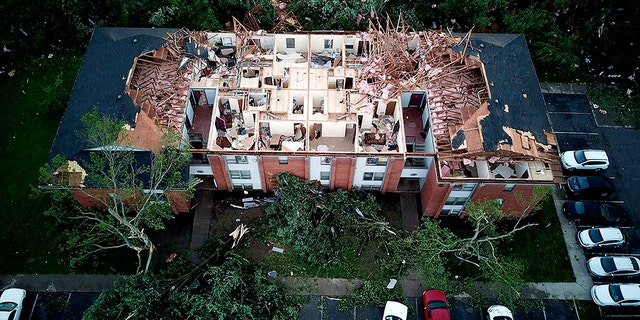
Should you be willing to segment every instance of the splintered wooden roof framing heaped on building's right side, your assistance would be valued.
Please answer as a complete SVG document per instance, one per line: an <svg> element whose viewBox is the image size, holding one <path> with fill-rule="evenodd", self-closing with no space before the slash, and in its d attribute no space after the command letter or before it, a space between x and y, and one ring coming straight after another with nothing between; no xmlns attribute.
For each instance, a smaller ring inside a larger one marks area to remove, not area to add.
<svg viewBox="0 0 640 320"><path fill-rule="evenodd" d="M359 92L385 102L403 92L428 89L433 133L439 151L450 151L451 127L460 127L490 96L482 63L451 49L465 43L470 32L456 38L442 31L415 31L402 16L396 25L369 21L362 32L368 42L368 56L361 59L364 69ZM465 108L471 110L462 111Z"/></svg>

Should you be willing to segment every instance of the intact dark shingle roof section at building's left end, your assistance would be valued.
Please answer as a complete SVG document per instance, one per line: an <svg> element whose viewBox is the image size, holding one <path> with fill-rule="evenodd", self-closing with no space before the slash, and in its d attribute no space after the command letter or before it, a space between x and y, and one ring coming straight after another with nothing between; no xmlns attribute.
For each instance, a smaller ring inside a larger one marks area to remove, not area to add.
<svg viewBox="0 0 640 320"><path fill-rule="evenodd" d="M67 109L53 141L50 160L56 155L73 159L87 147L78 133L81 118L94 108L104 115L123 119L135 127L140 110L125 93L125 83L134 59L160 47L167 32L174 29L97 28L71 93Z"/></svg>

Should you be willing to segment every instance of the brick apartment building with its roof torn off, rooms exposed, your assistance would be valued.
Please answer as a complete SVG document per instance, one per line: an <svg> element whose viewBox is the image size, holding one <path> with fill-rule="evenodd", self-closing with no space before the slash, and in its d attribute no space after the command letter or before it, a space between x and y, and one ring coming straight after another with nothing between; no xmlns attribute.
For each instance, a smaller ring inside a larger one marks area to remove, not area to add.
<svg viewBox="0 0 640 320"><path fill-rule="evenodd" d="M516 192L560 179L522 35L402 21L366 32L98 28L52 156L89 147L76 132L94 108L124 119L141 150L178 132L189 175L218 190L268 192L287 171L329 190L418 193L437 217L482 198L521 210Z"/></svg>

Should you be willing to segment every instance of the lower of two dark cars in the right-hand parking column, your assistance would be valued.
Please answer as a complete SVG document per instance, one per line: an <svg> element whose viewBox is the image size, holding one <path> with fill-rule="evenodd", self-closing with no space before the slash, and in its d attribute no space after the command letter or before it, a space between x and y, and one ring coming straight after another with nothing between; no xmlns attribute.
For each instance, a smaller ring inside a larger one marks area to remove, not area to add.
<svg viewBox="0 0 640 320"><path fill-rule="evenodd" d="M617 207L593 201L565 201L562 211L576 222L615 223L620 219Z"/></svg>

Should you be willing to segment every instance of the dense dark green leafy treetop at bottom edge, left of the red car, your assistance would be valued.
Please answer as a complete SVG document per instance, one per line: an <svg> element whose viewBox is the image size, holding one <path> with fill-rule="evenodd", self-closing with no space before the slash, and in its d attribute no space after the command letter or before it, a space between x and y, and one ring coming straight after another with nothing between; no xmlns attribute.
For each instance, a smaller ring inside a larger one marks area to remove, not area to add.
<svg viewBox="0 0 640 320"><path fill-rule="evenodd" d="M233 241L207 243L198 265L179 254L157 272L120 277L83 319L297 318L303 298L233 250L245 232L241 225Z"/></svg>

